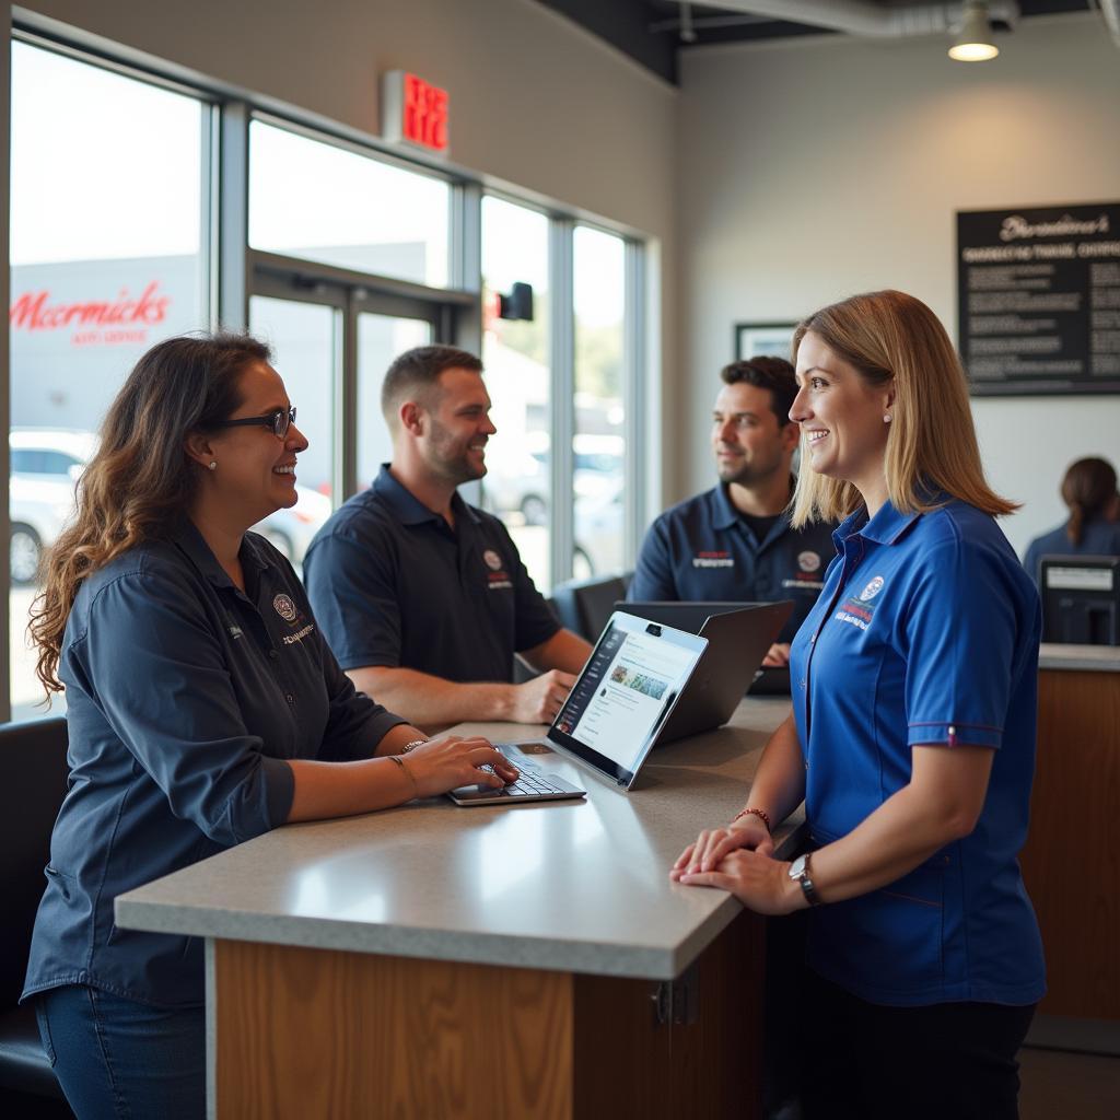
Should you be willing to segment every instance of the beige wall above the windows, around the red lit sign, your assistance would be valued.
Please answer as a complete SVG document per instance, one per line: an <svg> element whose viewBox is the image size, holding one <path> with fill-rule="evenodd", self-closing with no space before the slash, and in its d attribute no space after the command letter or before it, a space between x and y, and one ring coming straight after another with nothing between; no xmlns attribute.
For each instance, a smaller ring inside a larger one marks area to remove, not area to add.
<svg viewBox="0 0 1120 1120"><path fill-rule="evenodd" d="M383 72L409 69L442 86L457 165L656 239L663 314L653 352L675 354L678 91L534 0L21 7L373 136ZM675 469L670 460L666 473Z"/></svg>

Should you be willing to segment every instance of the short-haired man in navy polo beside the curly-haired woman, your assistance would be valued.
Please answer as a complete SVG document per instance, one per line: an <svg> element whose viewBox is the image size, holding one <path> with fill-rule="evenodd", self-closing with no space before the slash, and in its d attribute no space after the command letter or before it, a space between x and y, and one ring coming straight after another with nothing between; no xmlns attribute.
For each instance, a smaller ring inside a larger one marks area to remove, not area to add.
<svg viewBox="0 0 1120 1120"><path fill-rule="evenodd" d="M420 727L550 722L591 647L562 629L497 517L456 487L496 431L483 365L451 346L398 357L381 408L393 460L316 533L312 609L354 684ZM513 655L542 675L513 684Z"/></svg>

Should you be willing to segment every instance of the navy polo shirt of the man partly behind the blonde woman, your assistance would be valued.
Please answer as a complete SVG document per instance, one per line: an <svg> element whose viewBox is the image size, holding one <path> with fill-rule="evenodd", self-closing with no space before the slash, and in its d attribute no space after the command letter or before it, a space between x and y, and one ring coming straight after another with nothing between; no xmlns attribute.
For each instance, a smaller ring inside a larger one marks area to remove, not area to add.
<svg viewBox="0 0 1120 1120"><path fill-rule="evenodd" d="M662 600L793 599L778 635L790 642L821 590L836 553L832 525L793 529L783 513L762 541L731 505L725 485L666 510L642 542L627 598Z"/></svg>

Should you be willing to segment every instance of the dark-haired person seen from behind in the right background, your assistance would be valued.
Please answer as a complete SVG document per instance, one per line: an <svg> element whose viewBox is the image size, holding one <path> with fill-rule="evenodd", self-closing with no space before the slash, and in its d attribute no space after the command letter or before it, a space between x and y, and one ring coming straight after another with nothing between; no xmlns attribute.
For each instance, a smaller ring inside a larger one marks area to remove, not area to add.
<svg viewBox="0 0 1120 1120"><path fill-rule="evenodd" d="M1120 495L1117 473L1107 459L1071 463L1062 478L1062 501L1070 508L1064 525L1027 545L1023 567L1040 587L1044 556L1120 556Z"/></svg>

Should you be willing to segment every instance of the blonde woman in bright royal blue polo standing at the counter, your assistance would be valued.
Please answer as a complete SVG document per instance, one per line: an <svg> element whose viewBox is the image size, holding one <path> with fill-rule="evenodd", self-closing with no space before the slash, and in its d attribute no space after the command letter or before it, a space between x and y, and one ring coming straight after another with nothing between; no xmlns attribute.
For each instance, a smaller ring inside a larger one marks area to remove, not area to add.
<svg viewBox="0 0 1120 1120"><path fill-rule="evenodd" d="M902 292L794 335L794 524L842 523L791 653L793 713L746 806L672 876L767 914L811 907L806 1117L1017 1116L1045 991L1016 855L1035 754L1039 605L995 522L960 362ZM804 799L812 853L773 858Z"/></svg>

